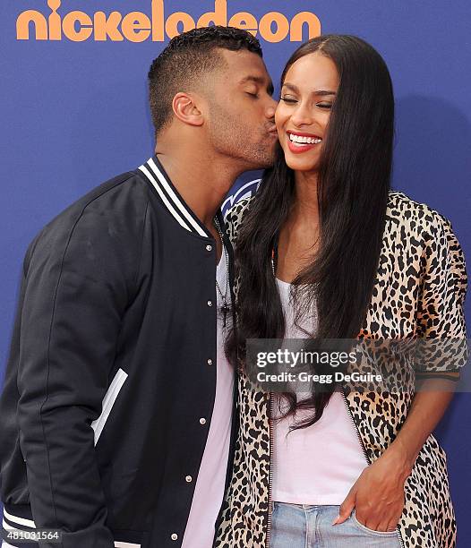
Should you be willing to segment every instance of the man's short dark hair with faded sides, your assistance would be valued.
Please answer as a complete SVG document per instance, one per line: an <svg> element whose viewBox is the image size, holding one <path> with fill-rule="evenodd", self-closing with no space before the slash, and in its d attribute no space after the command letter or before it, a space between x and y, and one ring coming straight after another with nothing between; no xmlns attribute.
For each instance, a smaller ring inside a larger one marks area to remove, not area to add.
<svg viewBox="0 0 471 548"><path fill-rule="evenodd" d="M216 25L176 36L154 59L149 71L149 96L156 134L172 119L176 93L192 89L201 76L224 66L218 48L247 49L262 56L260 42L250 32Z"/></svg>

